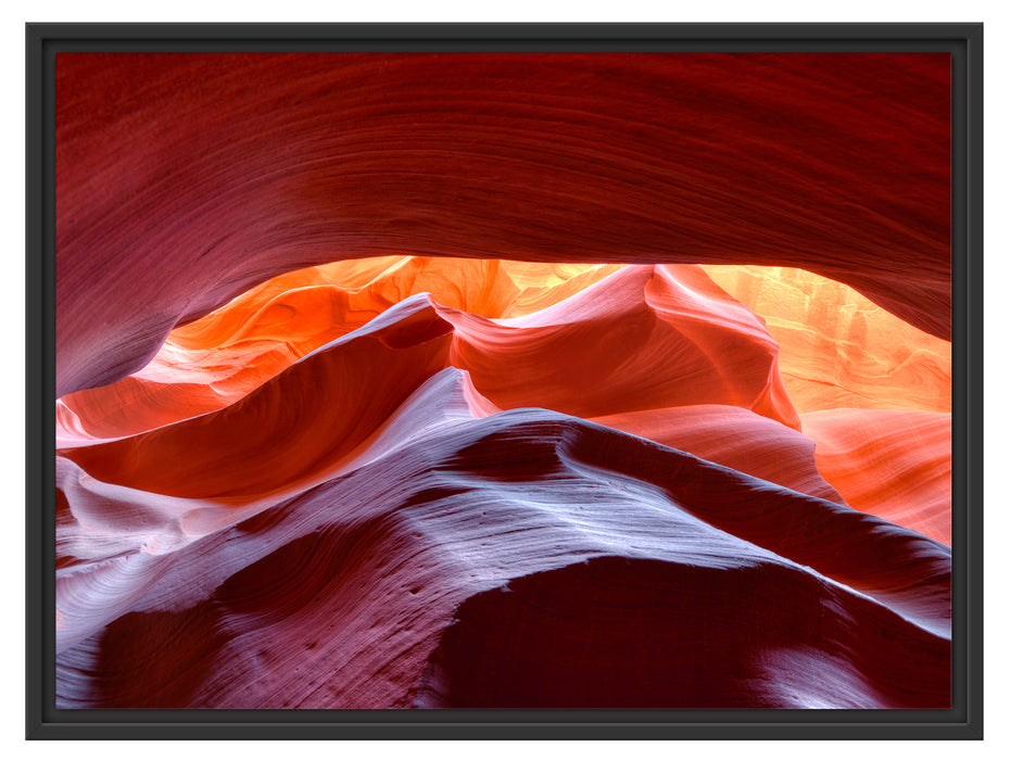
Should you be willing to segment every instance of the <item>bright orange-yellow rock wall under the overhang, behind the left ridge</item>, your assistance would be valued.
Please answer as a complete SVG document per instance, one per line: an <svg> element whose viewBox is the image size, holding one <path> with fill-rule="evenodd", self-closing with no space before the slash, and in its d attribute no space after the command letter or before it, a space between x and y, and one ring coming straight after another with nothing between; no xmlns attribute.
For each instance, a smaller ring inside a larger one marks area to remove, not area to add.
<svg viewBox="0 0 1011 760"><path fill-rule="evenodd" d="M485 317L546 308L620 265L387 256L299 269L173 330L151 363L56 404L58 445L132 435L224 408L402 299L432 293Z"/></svg>

